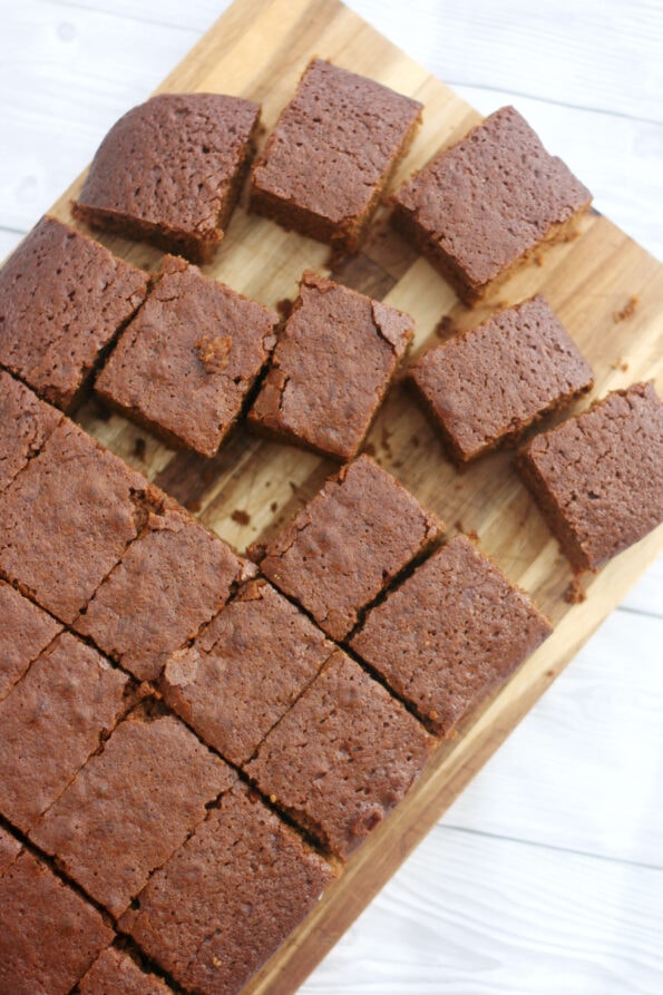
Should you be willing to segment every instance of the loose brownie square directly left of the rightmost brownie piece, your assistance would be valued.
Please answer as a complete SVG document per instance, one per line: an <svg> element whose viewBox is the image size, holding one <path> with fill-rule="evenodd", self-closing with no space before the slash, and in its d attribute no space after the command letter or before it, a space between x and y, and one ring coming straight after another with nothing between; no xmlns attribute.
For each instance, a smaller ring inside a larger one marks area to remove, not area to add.
<svg viewBox="0 0 663 995"><path fill-rule="evenodd" d="M429 350L411 377L457 465L513 441L594 383L542 294Z"/></svg>

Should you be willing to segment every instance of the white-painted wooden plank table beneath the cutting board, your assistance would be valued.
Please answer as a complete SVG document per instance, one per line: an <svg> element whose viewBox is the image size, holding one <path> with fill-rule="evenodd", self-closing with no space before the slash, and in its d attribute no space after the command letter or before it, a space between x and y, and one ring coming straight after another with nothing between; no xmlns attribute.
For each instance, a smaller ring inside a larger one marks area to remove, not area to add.
<svg viewBox="0 0 663 995"><path fill-rule="evenodd" d="M224 0L0 0L0 256ZM351 0L663 257L661 0ZM663 558L304 986L663 992Z"/></svg>

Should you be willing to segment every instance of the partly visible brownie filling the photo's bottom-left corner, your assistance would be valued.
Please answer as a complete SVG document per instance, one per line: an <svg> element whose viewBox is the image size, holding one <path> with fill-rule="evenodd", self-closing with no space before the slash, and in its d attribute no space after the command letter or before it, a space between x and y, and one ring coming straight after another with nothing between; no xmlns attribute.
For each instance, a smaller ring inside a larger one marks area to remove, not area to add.
<svg viewBox="0 0 663 995"><path fill-rule="evenodd" d="M26 850L0 877L0 992L68 995L113 938L97 909Z"/></svg>

